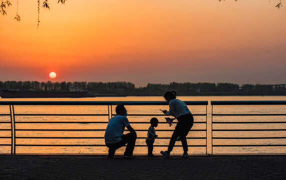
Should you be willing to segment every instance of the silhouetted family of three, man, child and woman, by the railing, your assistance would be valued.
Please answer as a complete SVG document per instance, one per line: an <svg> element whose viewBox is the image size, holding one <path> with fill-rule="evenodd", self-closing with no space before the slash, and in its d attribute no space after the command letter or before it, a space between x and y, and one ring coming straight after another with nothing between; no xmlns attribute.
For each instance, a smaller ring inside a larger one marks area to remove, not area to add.
<svg viewBox="0 0 286 180"><path fill-rule="evenodd" d="M171 125L174 119L177 119L177 125L170 138L168 149L161 151L161 154L170 157L170 152L173 150L176 141L181 141L183 146L182 158L188 157L188 144L186 136L189 133L194 123L194 118L187 107L187 105L176 98L175 91L167 91L164 94L165 100L169 104L169 110L162 110L166 115L174 116L174 118L166 117L167 123ZM123 104L117 105L115 108L116 115L109 119L106 127L104 139L108 149L108 158L113 158L116 149L127 144L123 157L124 158L135 158L133 150L137 138L137 133L134 128L130 125L127 118L127 109ZM148 157L156 157L153 154L153 144L155 138L158 137L155 131L155 127L158 126L159 120L156 117L150 119L150 127L148 128L146 144L148 147ZM129 133L123 134L125 127L129 130Z"/></svg>

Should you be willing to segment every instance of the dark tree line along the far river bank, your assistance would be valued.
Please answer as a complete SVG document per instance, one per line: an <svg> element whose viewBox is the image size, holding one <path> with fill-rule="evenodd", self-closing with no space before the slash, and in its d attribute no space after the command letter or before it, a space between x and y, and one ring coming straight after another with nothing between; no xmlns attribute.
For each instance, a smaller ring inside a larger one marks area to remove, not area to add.
<svg viewBox="0 0 286 180"><path fill-rule="evenodd" d="M175 90L178 95L286 95L285 86L270 84L239 84L219 82L171 82L169 84L148 83L135 87L132 82L52 82L52 81L0 81L0 89L34 91L69 91L70 86L79 87L94 94L117 95L163 95L165 91Z"/></svg>

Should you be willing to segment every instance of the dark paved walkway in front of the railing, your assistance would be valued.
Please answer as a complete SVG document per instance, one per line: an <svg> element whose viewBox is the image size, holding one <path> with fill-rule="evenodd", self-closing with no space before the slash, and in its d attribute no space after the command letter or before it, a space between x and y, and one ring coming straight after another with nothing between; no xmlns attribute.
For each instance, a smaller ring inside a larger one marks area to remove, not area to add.
<svg viewBox="0 0 286 180"><path fill-rule="evenodd" d="M286 155L0 155L0 179L286 179Z"/></svg>

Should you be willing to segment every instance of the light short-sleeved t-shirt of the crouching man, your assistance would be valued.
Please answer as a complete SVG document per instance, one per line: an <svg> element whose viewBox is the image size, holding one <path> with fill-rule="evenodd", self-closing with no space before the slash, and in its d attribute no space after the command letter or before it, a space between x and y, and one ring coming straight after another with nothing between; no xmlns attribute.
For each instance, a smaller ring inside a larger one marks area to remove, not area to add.
<svg viewBox="0 0 286 180"><path fill-rule="evenodd" d="M122 139L121 136L123 135L124 129L127 125L130 124L126 116L116 114L111 117L104 134L105 143L119 142Z"/></svg>

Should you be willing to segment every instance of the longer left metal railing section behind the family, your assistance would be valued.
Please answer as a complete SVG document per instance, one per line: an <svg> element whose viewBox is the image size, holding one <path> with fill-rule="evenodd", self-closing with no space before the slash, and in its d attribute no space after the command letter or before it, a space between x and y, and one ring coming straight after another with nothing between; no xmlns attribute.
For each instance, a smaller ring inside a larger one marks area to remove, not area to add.
<svg viewBox="0 0 286 180"><path fill-rule="evenodd" d="M188 146L196 146L196 147L205 147L205 153L207 153L207 101L184 101L187 105L204 105L205 106L205 113L200 114L193 114L194 116L205 116L205 121L195 121L194 123L202 123L205 124L205 128L203 129L191 129L191 131L203 131L205 132L205 136L200 137L187 137L187 139L204 139L205 144L194 144ZM10 106L10 114L0 114L3 116L10 115L11 121L7 122L0 122L0 123L11 123L11 128L9 129L0 129L1 131L11 131L11 136L4 136L0 138L11 138L11 144L0 144L1 146L10 146L11 145L11 154L16 154L16 147L18 146L106 146L105 144L25 144L25 143L18 143L17 139L103 139L103 136L19 136L17 135L20 131L105 131L105 128L99 129L50 129L50 128L17 128L18 124L29 123L29 124L39 124L39 123L108 123L108 119L115 115L112 113L112 107L114 105L124 104L124 105L168 105L166 101L0 101L0 105L9 105ZM101 105L106 106L107 113L17 113L15 111L15 105ZM19 121L18 118L21 116L106 116L107 121ZM128 114L128 116L165 116L164 114ZM131 118L130 118L131 119ZM150 122L136 122L130 121L130 123L150 123ZM165 122L159 122L165 123ZM136 131L146 131L148 129L136 129ZM173 131L173 129L156 129L156 131ZM145 139L146 136L138 136L139 139ZM158 139L169 139L170 137L159 137ZM143 144L136 144L135 146L147 146ZM166 144L157 144L154 146L168 146ZM181 145L175 145L181 146ZM39 153L38 153L39 154Z"/></svg>

